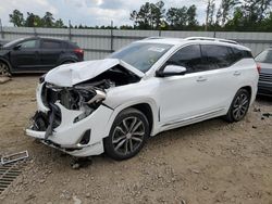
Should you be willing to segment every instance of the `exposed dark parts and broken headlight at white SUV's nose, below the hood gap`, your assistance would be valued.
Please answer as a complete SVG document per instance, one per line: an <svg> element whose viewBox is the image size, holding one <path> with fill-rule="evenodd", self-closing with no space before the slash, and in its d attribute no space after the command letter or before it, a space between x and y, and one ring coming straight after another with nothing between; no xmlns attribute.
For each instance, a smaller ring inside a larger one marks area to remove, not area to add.
<svg viewBox="0 0 272 204"><path fill-rule="evenodd" d="M41 85L41 101L48 112L37 111L33 117L33 130L46 131L45 139L52 135L52 130L60 126L62 120L60 105L66 110L78 112L73 123L89 116L106 99L106 92L94 86L75 86L61 88L45 82Z"/></svg>

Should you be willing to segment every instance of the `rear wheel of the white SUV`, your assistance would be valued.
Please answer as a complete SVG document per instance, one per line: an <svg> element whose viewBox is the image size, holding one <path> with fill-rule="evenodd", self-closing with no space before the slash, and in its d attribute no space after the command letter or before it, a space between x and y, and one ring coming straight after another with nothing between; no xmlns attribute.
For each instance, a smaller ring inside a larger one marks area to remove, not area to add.
<svg viewBox="0 0 272 204"><path fill-rule="evenodd" d="M248 112L249 104L250 93L246 89L239 89L233 99L225 119L230 123L242 120Z"/></svg>

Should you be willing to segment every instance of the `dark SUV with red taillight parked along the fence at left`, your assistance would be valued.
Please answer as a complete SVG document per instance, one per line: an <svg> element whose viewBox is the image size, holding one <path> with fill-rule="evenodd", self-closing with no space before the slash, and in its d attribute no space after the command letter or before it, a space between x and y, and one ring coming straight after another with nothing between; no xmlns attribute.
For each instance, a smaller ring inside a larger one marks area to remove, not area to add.
<svg viewBox="0 0 272 204"><path fill-rule="evenodd" d="M0 74L45 73L83 59L83 49L73 42L53 38L21 38L0 49Z"/></svg>

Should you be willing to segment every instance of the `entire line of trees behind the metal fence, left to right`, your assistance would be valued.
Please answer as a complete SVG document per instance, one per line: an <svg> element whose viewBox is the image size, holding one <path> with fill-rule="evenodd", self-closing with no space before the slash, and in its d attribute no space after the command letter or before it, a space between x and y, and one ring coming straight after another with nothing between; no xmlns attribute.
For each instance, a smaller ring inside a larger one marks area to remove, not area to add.
<svg viewBox="0 0 272 204"><path fill-rule="evenodd" d="M205 23L198 22L197 7L165 9L163 1L146 2L131 13L132 25L86 26L65 25L61 18L46 12L44 16L27 12L26 18L18 10L10 14L15 27L55 27L95 29L165 29L165 30L210 30L210 31L272 31L272 0L206 0Z"/></svg>

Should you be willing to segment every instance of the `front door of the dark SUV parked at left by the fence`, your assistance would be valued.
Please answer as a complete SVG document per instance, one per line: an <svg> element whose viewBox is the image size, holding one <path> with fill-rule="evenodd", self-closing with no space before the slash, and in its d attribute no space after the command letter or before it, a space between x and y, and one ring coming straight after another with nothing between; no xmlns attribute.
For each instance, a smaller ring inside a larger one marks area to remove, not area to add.
<svg viewBox="0 0 272 204"><path fill-rule="evenodd" d="M16 44L10 55L16 71L34 71L40 66L39 39L29 39Z"/></svg>

